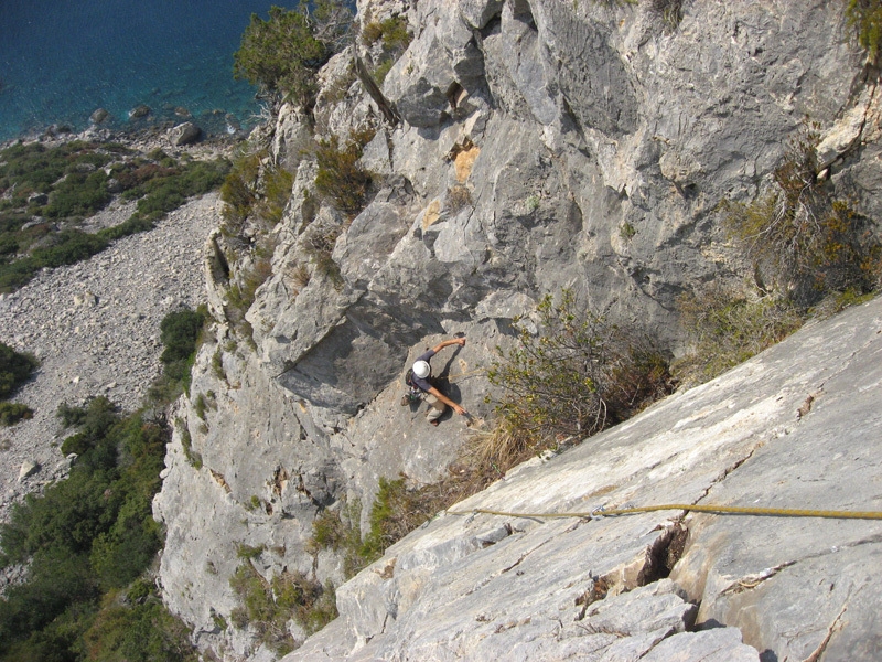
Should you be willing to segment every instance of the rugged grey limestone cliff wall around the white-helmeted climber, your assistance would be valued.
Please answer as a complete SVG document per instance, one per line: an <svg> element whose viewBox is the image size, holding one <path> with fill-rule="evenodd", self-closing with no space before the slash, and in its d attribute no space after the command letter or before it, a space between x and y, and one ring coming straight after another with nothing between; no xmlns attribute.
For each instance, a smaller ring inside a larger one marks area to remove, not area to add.
<svg viewBox="0 0 882 662"><path fill-rule="evenodd" d="M405 367L426 345L467 334L465 348L441 360L467 375L452 395L478 420L490 414L480 369L510 338L512 318L545 292L572 288L678 351L676 298L698 282L745 276L718 205L757 194L806 115L820 124L831 185L879 217L876 90L845 41L838 6L685 3L675 26L660 4L361 2L363 24L402 15L413 35L383 85L400 121L379 121L383 110L352 74L356 50L368 65L383 55L359 42L323 70L314 125L283 107L265 129L273 158L297 175L273 231L271 276L246 316L254 345L227 321L217 256L229 246L215 234L206 244L215 338L180 403L154 503L168 527L165 597L202 645L229 659L255 653L247 632L222 624L237 604L229 587L237 549L262 549L251 563L265 577L287 568L340 584L333 553L304 552L315 514L343 499L367 508L380 477L404 471L428 482L455 458L463 419L432 428L398 405ZM345 145L368 125L378 130L362 163L374 191L349 222L318 195L316 164L303 147L332 135ZM240 258L234 281L250 260ZM684 420L697 415L682 407ZM652 465L634 465L628 480L639 481L642 467ZM462 525L445 520L441 528ZM630 533L616 535L646 546L646 525L630 520ZM602 551L607 560L585 572L612 572L634 549ZM700 599L698 583L687 587L689 599ZM341 589L342 602L362 609L361 590ZM676 609L684 623L695 616ZM377 622L387 620L381 611ZM721 616L708 611L730 622ZM353 618L332 626L349 628L353 645L383 631ZM397 654L397 637L383 638L383 655Z"/></svg>

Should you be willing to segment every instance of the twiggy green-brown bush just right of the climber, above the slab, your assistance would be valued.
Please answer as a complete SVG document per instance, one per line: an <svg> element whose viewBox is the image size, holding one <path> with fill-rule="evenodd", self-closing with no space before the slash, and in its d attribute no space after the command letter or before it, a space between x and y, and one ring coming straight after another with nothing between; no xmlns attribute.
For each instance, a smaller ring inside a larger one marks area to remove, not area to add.
<svg viewBox="0 0 882 662"><path fill-rule="evenodd" d="M504 395L495 403L501 435L487 439L481 461L502 471L624 420L671 389L667 362L648 338L580 308L569 290L557 303L546 296L536 310L538 332L519 327L517 342L498 350L487 372Z"/></svg>

